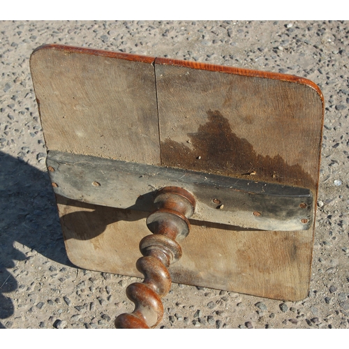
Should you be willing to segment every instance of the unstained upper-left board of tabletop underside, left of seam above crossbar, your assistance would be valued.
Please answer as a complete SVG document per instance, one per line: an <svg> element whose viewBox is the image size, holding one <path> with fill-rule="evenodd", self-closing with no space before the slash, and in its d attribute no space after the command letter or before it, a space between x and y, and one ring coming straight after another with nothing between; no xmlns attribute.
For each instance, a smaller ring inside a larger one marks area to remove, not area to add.
<svg viewBox="0 0 349 349"><path fill-rule="evenodd" d="M137 59L58 45L36 50L31 75L47 149L160 164L154 59Z"/></svg>

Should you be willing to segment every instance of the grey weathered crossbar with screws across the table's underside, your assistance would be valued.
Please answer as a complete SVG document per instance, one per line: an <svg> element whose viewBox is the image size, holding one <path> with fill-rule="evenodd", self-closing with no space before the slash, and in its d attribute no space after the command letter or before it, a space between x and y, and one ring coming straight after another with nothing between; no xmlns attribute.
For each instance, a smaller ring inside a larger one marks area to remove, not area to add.
<svg viewBox="0 0 349 349"><path fill-rule="evenodd" d="M313 194L307 188L225 177L156 165L49 151L54 193L94 205L151 212L165 186L195 196L191 219L251 230L308 230Z"/></svg>

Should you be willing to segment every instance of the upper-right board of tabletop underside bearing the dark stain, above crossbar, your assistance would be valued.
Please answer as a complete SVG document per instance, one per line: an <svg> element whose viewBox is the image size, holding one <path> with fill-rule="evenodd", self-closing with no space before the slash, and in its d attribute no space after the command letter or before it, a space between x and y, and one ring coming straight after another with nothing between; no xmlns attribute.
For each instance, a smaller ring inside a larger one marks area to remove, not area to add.
<svg viewBox="0 0 349 349"><path fill-rule="evenodd" d="M156 64L161 163L316 191L322 99L307 84Z"/></svg>

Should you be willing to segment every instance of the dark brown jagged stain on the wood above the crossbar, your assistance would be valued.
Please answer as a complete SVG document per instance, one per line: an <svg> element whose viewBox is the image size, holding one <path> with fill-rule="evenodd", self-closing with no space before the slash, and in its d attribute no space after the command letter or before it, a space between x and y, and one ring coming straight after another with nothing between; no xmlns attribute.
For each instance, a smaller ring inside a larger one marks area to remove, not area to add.
<svg viewBox="0 0 349 349"><path fill-rule="evenodd" d="M161 142L162 165L315 188L315 181L299 164L288 165L279 154L257 154L246 139L232 132L221 112L208 110L207 115L207 123L188 134L193 149L169 138Z"/></svg>

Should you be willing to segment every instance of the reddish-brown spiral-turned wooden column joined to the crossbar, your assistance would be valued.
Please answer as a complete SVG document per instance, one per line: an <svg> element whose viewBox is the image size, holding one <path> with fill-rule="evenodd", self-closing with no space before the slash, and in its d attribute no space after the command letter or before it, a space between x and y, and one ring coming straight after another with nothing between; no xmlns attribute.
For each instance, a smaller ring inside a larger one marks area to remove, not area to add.
<svg viewBox="0 0 349 349"><path fill-rule="evenodd" d="M135 304L132 313L119 315L116 328L153 328L163 318L161 298L171 288L168 267L181 258L181 246L176 240L189 233L188 218L194 213L195 199L177 186L158 191L154 200L158 209L147 218L147 227L154 235L140 242L141 257L137 269L144 275L143 283L131 283L126 295Z"/></svg>

